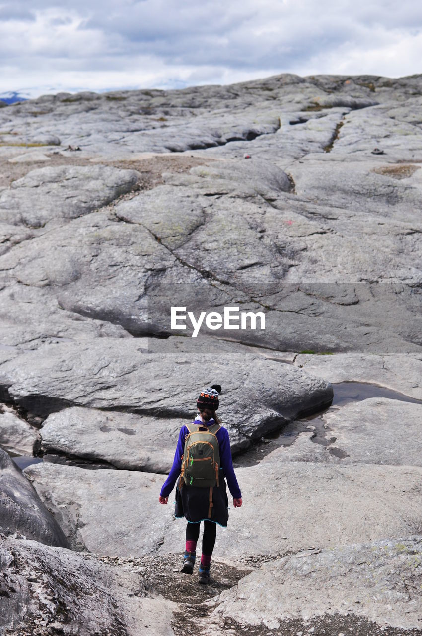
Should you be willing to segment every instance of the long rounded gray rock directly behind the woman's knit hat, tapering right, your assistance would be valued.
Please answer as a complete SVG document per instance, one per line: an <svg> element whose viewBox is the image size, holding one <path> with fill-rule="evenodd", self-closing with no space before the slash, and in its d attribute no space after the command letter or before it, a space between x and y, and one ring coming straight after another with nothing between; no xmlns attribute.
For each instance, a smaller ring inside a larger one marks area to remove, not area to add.
<svg viewBox="0 0 422 636"><path fill-rule="evenodd" d="M36 415L78 405L191 418L198 391L211 380L223 387L222 419L244 441L279 428L299 413L318 411L332 399L329 382L291 364L254 354L210 361L199 352L194 359L177 354L163 360L162 354L135 349L132 340L46 345L42 357L38 350L25 352L0 366L0 385Z"/></svg>

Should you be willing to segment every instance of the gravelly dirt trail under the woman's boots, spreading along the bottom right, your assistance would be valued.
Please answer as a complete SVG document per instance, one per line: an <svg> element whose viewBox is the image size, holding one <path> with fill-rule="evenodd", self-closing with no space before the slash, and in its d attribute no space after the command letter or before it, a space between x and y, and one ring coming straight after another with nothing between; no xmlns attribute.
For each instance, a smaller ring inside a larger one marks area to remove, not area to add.
<svg viewBox="0 0 422 636"><path fill-rule="evenodd" d="M158 593L179 605L175 612L172 628L175 636L416 636L419 630L401 630L371 623L366 618L353 612L345 611L344 615L332 614L305 621L289 619L283 621L276 629L266 625L249 625L238 623L231 618L210 616L218 607L219 595L224 590L237 585L238 581L257 569L265 561L271 560L268 555L245 557L251 562L250 567L243 563L224 563L212 560L210 583L198 583L198 567L195 564L192 576L180 572L182 553L154 553L142 557L111 557L86 554L87 558L123 567L142 576L150 593ZM282 598L280 598L280 603Z"/></svg>

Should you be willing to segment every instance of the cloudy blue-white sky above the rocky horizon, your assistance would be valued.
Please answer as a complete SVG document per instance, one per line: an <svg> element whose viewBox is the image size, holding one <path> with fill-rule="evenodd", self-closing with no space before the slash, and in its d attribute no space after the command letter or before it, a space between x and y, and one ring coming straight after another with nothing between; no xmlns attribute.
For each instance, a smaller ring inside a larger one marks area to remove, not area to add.
<svg viewBox="0 0 422 636"><path fill-rule="evenodd" d="M0 0L0 93L422 73L417 0Z"/></svg>

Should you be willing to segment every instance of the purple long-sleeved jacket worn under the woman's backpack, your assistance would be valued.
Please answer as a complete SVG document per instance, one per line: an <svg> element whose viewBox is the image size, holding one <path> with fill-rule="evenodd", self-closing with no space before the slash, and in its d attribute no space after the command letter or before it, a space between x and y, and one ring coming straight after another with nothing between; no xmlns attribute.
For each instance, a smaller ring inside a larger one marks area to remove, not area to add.
<svg viewBox="0 0 422 636"><path fill-rule="evenodd" d="M201 420L194 420L195 424L203 425ZM214 424L214 420L211 419L207 422L210 426ZM167 480L161 488L160 495L161 497L168 497L170 492L172 492L174 485L177 481L177 478L180 475L180 470L182 468L182 456L184 451L184 440L186 435L189 434L186 426L182 426L179 433L179 441L177 442L176 452L174 453L173 466L168 474ZM227 485L229 487L229 491L233 499L242 499L242 494L240 492L239 485L236 480L235 469L233 468L233 462L231 460L231 449L230 449L230 439L228 430L222 426L215 435L219 441L219 452L220 452L220 470L223 469L224 476L227 480Z"/></svg>

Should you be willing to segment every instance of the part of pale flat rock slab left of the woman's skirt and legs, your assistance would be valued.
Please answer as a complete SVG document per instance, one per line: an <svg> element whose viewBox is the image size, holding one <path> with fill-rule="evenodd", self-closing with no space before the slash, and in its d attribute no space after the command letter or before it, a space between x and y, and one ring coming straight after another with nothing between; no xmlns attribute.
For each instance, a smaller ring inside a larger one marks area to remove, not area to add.
<svg viewBox="0 0 422 636"><path fill-rule="evenodd" d="M158 502L162 474L48 462L28 466L24 474L74 550L142 556L159 550L164 537L167 551L183 548L185 523L174 520L171 505Z"/></svg>

